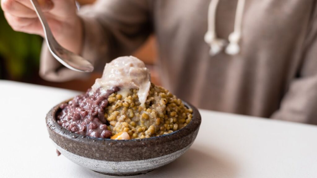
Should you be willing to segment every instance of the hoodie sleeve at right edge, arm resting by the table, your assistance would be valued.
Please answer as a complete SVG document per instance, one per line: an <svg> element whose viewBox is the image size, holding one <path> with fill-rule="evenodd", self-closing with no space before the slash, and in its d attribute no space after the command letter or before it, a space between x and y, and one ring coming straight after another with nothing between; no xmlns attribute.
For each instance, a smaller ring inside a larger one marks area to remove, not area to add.
<svg viewBox="0 0 317 178"><path fill-rule="evenodd" d="M271 118L317 124L317 13L304 42L301 67L291 81L280 109Z"/></svg>

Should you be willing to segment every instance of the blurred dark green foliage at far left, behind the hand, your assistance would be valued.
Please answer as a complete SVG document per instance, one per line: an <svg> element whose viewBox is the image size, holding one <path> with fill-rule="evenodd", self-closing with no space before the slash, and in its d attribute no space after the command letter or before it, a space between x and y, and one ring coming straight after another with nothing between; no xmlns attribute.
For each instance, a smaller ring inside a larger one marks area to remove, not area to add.
<svg viewBox="0 0 317 178"><path fill-rule="evenodd" d="M0 8L0 79L29 80L37 74L42 41L12 30Z"/></svg>

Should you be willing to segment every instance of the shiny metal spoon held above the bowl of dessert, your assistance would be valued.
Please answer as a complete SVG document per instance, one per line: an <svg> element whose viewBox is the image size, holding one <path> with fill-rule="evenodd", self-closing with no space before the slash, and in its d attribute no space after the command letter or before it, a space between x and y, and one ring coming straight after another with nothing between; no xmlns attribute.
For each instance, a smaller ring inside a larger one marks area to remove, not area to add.
<svg viewBox="0 0 317 178"><path fill-rule="evenodd" d="M35 9L38 18L42 23L49 51L55 57L55 59L69 69L80 72L92 72L94 70L94 66L88 60L68 51L67 49L61 47L60 44L58 44L52 34L51 29L49 28L49 24L46 21L46 18L41 10L39 3L37 2L37 0L30 1Z"/></svg>

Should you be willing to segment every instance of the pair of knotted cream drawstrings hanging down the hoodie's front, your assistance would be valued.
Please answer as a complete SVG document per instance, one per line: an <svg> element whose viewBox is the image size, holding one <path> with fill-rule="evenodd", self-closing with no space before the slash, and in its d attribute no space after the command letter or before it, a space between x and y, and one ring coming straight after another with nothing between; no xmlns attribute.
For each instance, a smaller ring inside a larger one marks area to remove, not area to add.
<svg viewBox="0 0 317 178"><path fill-rule="evenodd" d="M216 12L219 0L211 0L208 7L208 31L204 40L210 46L209 54L214 56L223 50L227 42L217 38L216 34ZM235 16L234 31L229 35L229 44L225 49L226 54L235 55L240 52L239 41L241 39L242 18L245 0L238 0Z"/></svg>

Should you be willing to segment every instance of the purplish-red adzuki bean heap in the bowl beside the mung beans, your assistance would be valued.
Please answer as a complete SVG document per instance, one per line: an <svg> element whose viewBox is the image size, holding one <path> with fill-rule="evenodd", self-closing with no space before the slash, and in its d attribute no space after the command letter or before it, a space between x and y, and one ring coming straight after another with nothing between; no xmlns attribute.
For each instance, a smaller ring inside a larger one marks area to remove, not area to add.
<svg viewBox="0 0 317 178"><path fill-rule="evenodd" d="M89 95L91 89L84 94L74 97L68 103L60 106L57 123L71 132L97 138L109 138L112 132L107 130L107 120L104 109L108 105L108 97L119 91L118 87L101 93L98 89Z"/></svg>

